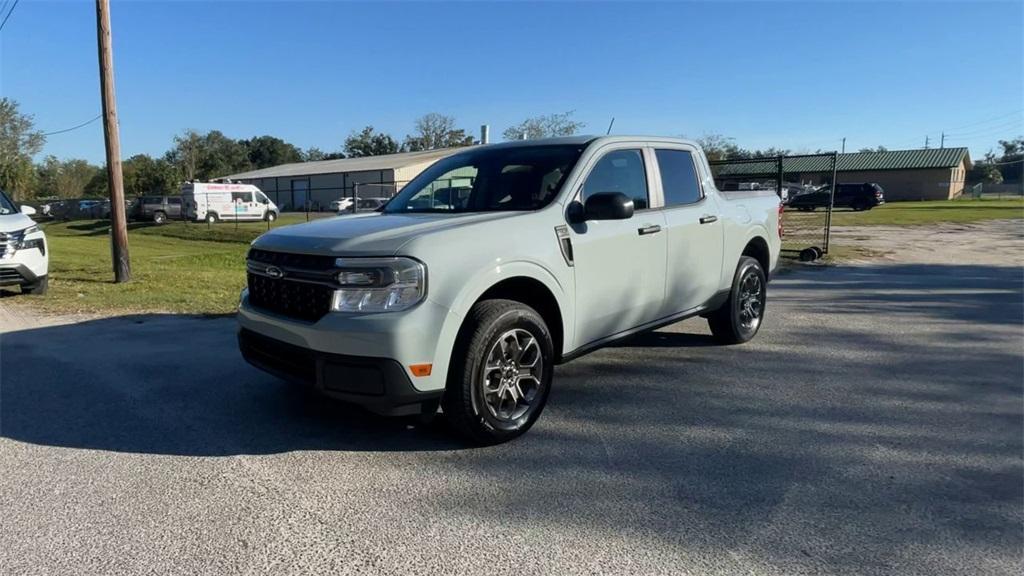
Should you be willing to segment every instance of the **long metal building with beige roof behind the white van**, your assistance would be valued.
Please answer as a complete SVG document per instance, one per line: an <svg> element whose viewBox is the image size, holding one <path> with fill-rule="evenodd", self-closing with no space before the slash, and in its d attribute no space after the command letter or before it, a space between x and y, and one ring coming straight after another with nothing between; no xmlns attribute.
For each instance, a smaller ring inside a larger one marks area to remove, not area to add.
<svg viewBox="0 0 1024 576"><path fill-rule="evenodd" d="M327 210L357 191L360 198L391 197L431 164L461 149L406 152L385 156L296 162L226 178L262 190L282 210Z"/></svg>

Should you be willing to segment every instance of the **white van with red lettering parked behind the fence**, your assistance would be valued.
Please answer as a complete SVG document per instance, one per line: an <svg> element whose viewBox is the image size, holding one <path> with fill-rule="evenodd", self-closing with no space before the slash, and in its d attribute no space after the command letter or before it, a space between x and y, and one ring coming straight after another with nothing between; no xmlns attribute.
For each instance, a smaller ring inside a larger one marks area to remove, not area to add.
<svg viewBox="0 0 1024 576"><path fill-rule="evenodd" d="M260 189L252 184L185 182L181 184L185 217L216 222L218 220L278 219L281 212Z"/></svg>

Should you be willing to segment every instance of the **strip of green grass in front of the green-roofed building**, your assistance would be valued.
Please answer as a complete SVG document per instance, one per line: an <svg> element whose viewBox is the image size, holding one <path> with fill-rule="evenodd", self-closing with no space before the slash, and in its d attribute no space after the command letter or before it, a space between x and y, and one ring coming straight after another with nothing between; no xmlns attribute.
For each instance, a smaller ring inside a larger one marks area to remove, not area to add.
<svg viewBox="0 0 1024 576"><path fill-rule="evenodd" d="M785 217L795 225L805 220L824 221L821 211L804 213L786 210ZM1024 218L1024 199L891 202L864 212L845 208L833 211L833 225L913 225L1006 218Z"/></svg>

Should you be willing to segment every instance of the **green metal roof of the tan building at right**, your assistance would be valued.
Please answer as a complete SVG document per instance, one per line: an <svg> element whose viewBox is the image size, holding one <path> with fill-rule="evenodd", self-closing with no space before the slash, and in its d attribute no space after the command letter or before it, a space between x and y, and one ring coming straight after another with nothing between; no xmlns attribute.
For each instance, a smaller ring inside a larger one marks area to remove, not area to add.
<svg viewBox="0 0 1024 576"><path fill-rule="evenodd" d="M891 150L888 152L856 152L840 154L836 170L854 172L861 170L921 170L928 168L954 168L967 156L966 148L932 148L922 150ZM728 161L726 161L728 162ZM968 157L968 164L971 159ZM775 160L736 162L712 165L717 176L744 176L774 174L778 170ZM830 156L783 158L785 172L830 172Z"/></svg>

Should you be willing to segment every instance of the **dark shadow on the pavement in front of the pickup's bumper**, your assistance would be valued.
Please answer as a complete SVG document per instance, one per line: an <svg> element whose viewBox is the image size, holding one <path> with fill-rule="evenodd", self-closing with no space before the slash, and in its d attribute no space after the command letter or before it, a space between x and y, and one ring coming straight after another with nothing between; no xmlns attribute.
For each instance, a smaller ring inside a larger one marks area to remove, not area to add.
<svg viewBox="0 0 1024 576"><path fill-rule="evenodd" d="M0 334L0 436L117 452L453 450L246 364L233 318L136 315Z"/></svg>

